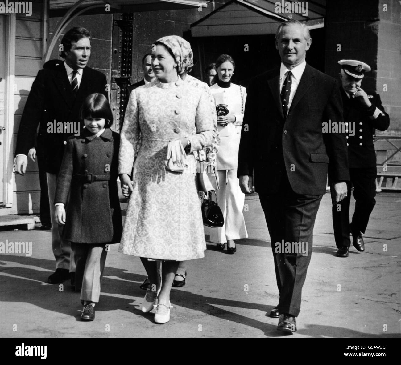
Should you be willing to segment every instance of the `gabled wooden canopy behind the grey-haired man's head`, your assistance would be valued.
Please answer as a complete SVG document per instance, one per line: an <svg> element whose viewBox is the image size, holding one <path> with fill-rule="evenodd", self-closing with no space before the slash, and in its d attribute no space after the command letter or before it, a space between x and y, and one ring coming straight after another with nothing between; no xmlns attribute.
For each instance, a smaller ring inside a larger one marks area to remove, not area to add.
<svg viewBox="0 0 401 365"><path fill-rule="evenodd" d="M326 0L290 2L231 0L191 24L193 37L275 34L279 23L296 19L310 29L323 28Z"/></svg>

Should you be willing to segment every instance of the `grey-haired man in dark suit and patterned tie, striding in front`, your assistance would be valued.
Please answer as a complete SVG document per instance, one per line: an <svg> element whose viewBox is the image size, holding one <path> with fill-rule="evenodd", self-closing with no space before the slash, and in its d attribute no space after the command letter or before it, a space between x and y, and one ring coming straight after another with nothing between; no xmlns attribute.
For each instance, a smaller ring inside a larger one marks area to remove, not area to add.
<svg viewBox="0 0 401 365"><path fill-rule="evenodd" d="M238 177L249 194L254 175L271 237L279 304L270 316L279 317L278 330L294 332L327 173L342 200L348 156L344 134L322 132L324 120L342 120L342 103L336 80L305 62L312 42L308 27L284 22L275 42L281 66L248 88Z"/></svg>

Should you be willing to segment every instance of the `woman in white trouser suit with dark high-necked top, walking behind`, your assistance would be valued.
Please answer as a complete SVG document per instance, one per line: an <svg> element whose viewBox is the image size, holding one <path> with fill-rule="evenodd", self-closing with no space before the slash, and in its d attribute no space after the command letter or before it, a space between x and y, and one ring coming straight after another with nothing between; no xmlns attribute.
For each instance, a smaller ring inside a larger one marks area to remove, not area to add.
<svg viewBox="0 0 401 365"><path fill-rule="evenodd" d="M224 215L221 228L209 229L210 240L223 250L227 242L227 252L235 253L235 240L248 237L243 216L245 194L239 187L237 178L238 148L241 138L243 110L246 89L231 83L235 68L234 60L228 54L217 58L217 83L210 87L217 107L217 124L220 145L217 153L217 171L220 189L217 201Z"/></svg>

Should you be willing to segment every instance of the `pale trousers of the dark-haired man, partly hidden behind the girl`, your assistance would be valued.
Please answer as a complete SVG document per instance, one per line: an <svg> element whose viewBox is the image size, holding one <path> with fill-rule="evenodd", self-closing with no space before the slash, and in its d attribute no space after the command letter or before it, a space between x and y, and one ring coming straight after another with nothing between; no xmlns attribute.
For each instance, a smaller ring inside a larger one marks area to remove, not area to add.
<svg viewBox="0 0 401 365"><path fill-rule="evenodd" d="M71 250L71 243L62 238L63 226L56 222L54 197L56 193L57 176L47 173L47 189L49 191L50 217L51 217L51 238L53 255L56 258L56 269L67 269L70 273L75 272L74 253Z"/></svg>

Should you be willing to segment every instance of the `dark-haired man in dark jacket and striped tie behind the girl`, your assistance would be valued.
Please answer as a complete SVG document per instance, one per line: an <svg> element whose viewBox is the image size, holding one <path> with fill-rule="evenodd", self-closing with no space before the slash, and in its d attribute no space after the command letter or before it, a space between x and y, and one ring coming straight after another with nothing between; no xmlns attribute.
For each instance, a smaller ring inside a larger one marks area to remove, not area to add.
<svg viewBox="0 0 401 365"><path fill-rule="evenodd" d="M37 153L44 156L44 168L47 172L52 248L56 258L56 271L49 276L47 282L57 284L71 278L71 285L74 285L75 263L71 243L63 241L61 228L55 221L53 201L56 179L67 138L83 130L83 125L77 124L83 100L95 92L108 98L108 93L106 76L86 67L91 54L89 31L85 28L72 28L65 34L61 44L61 57L65 61L40 70L32 84L18 129L15 164L16 172L24 175L28 164L27 155L34 147L39 125ZM61 127L56 128L58 125ZM75 128L74 132L72 128Z"/></svg>

